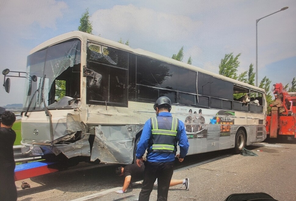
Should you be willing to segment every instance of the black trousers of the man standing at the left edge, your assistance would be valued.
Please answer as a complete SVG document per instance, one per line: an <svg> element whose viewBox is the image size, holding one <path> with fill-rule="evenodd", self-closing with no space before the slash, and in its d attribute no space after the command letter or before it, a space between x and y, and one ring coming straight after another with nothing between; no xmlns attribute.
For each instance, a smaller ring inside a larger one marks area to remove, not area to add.
<svg viewBox="0 0 296 201"><path fill-rule="evenodd" d="M14 168L14 162L0 164L0 201L17 200Z"/></svg>

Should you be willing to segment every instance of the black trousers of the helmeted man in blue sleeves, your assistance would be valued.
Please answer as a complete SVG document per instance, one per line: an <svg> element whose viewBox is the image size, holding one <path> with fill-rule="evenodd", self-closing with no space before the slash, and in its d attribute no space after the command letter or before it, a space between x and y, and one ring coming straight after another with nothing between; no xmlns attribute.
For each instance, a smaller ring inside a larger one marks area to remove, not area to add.
<svg viewBox="0 0 296 201"><path fill-rule="evenodd" d="M166 201L168 199L168 188L170 187L171 176L173 175L172 162L148 162L145 163L144 180L139 201L148 201L153 184L157 178L157 201Z"/></svg>

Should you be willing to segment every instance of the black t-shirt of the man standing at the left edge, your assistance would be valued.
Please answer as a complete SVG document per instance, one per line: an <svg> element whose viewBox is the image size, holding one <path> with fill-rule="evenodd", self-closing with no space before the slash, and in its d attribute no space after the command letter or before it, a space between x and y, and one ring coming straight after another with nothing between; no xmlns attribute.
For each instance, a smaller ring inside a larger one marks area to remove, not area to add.
<svg viewBox="0 0 296 201"><path fill-rule="evenodd" d="M16 133L13 129L0 128L0 163L14 163L13 143Z"/></svg>

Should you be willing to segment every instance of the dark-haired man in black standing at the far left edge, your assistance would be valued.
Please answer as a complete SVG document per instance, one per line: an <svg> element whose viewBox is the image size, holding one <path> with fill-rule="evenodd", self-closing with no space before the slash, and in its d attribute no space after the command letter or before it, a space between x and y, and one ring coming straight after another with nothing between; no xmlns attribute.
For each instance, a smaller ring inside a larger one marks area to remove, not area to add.
<svg viewBox="0 0 296 201"><path fill-rule="evenodd" d="M14 182L15 162L13 143L16 133L11 129L16 116L5 111L1 116L0 128L0 201L16 201L16 185Z"/></svg>

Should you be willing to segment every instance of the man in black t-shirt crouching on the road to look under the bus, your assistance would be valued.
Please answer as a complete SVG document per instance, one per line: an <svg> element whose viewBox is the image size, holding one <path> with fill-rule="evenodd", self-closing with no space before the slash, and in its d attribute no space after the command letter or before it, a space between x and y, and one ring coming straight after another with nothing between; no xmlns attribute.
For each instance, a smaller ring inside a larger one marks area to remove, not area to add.
<svg viewBox="0 0 296 201"><path fill-rule="evenodd" d="M124 176L125 182L123 184L123 187L121 190L115 191L116 193L124 193L126 189L128 188L128 185L131 182L131 179L133 178L134 181L141 180L144 177L144 170L145 166L142 163L141 167L139 167L136 163L126 165L125 167L118 167L115 170L116 175ZM175 186L178 184L183 184L186 191L189 190L189 178L186 179L171 179L170 186ZM154 185L157 185L157 180L154 183Z"/></svg>

